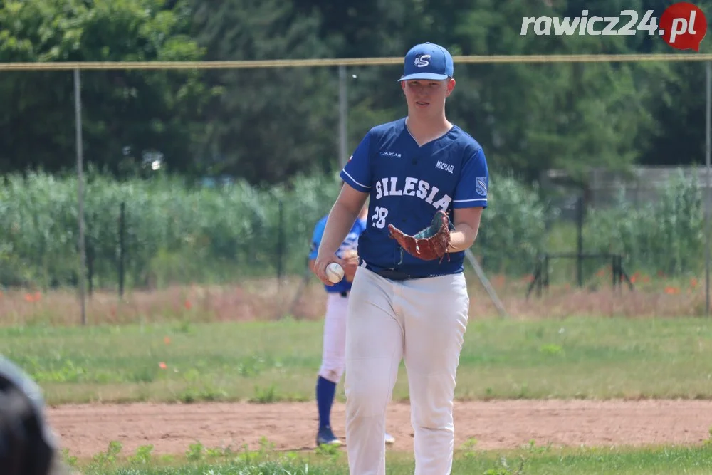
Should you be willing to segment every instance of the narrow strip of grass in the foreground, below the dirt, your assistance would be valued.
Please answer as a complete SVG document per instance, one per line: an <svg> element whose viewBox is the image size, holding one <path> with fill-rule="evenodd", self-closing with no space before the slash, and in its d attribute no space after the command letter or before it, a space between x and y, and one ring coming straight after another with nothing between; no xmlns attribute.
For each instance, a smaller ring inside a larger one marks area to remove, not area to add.
<svg viewBox="0 0 712 475"><path fill-rule="evenodd" d="M187 460L192 458L192 460ZM402 454L387 456L387 471L408 475L414 471L412 460ZM157 459L150 454L117 461L110 453L85 464L86 475L347 475L347 461L340 451L321 454L265 453L193 455L175 459ZM649 448L639 450L583 448L551 450L526 447L514 451L460 450L456 454L456 475L584 475L584 474L709 474L712 449Z"/></svg>

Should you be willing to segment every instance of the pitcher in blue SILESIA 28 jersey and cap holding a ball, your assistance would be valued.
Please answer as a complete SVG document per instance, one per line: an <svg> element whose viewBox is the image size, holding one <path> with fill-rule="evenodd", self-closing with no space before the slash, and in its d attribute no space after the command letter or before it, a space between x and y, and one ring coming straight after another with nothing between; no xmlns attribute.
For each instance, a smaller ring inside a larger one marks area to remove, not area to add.
<svg viewBox="0 0 712 475"><path fill-rule="evenodd" d="M407 52L399 78L407 117L369 130L342 169L347 186L314 264L329 285L325 269L343 263L335 251L369 199L346 330L346 447L354 475L386 473L377 436L402 359L415 474L452 469L456 369L469 307L464 251L476 239L488 186L481 145L446 119L453 72L441 46Z"/></svg>

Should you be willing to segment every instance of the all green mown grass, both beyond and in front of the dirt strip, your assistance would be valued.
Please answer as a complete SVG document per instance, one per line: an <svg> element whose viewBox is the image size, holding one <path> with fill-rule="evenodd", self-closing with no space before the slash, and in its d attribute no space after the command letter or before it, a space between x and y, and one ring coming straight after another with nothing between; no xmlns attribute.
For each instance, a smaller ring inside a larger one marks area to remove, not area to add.
<svg viewBox="0 0 712 475"><path fill-rule="evenodd" d="M49 404L313 400L320 320L0 328L3 353ZM498 399L712 399L712 326L701 318L482 318L468 325L456 396ZM404 368L394 390L407 400ZM711 420L712 423L712 420ZM345 451L176 456L114 445L73 459L83 474L347 474ZM389 451L389 474L413 471ZM457 448L454 474L706 474L712 447Z"/></svg>

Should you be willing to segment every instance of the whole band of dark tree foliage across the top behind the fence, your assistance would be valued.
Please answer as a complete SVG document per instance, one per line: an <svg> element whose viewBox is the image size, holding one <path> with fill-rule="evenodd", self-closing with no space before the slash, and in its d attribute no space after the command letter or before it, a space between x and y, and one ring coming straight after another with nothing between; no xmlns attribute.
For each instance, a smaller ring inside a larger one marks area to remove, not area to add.
<svg viewBox="0 0 712 475"><path fill-rule="evenodd" d="M403 56L422 41L454 55L671 53L646 31L520 34L525 16L585 9L617 16L626 8L641 16L653 9L659 18L667 3L7 0L0 61ZM372 125L406 113L401 70L349 68L349 150ZM486 147L497 171L535 179L556 167L582 179L590 167L703 157L701 62L456 64L455 71L449 118ZM252 184L339 167L336 68L85 71L82 86L86 160L115 174L156 154L188 176L226 174ZM0 172L72 167L73 99L69 71L3 73Z"/></svg>

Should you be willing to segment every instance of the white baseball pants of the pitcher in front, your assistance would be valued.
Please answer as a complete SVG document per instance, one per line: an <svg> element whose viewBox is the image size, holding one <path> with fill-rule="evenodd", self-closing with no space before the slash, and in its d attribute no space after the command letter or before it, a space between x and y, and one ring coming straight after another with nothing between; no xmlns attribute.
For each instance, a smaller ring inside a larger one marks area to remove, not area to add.
<svg viewBox="0 0 712 475"><path fill-rule="evenodd" d="M346 447L351 475L384 475L386 406L408 375L415 475L448 475L455 376L467 325L464 276L390 281L359 267L346 330Z"/></svg>

